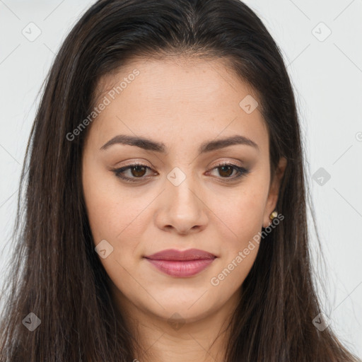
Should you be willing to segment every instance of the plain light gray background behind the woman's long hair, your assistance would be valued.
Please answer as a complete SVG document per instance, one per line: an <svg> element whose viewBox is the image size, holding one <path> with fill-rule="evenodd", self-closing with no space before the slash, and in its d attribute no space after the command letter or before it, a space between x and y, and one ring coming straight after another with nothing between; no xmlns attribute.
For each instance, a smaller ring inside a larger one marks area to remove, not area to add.
<svg viewBox="0 0 362 362"><path fill-rule="evenodd" d="M328 293L327 300L321 296L323 308L341 341L361 357L362 0L245 2L262 18L288 64L327 262L323 271L312 233L313 260ZM38 92L62 40L91 4L0 0L0 284ZM41 30L34 41L22 33L36 34L31 22ZM315 174L320 168L324 175Z"/></svg>

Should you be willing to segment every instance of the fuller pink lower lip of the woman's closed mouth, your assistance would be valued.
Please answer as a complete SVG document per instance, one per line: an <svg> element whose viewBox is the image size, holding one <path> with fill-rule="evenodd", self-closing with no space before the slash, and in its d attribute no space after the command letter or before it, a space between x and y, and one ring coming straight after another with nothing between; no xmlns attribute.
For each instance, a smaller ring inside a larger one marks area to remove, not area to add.
<svg viewBox="0 0 362 362"><path fill-rule="evenodd" d="M147 260L148 262L151 262L151 264L153 264L157 269L163 271L165 274L171 276L178 276L180 278L198 274L200 271L208 267L209 264L214 262L214 259L197 259L185 261L155 259Z"/></svg>

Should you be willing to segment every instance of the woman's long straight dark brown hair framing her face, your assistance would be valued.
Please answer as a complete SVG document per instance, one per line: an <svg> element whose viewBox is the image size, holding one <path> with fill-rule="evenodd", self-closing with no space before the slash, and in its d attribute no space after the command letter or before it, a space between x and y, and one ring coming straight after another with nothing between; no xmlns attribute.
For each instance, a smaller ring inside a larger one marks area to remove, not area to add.
<svg viewBox="0 0 362 362"><path fill-rule="evenodd" d="M136 56L177 54L228 62L259 95L271 171L281 156L288 161L276 205L284 221L262 240L243 282L226 361L358 361L329 327L313 325L321 308L310 267L296 102L279 47L239 0L100 0L66 37L23 165L2 293L0 361L134 360L134 336L112 305L83 200L81 156L90 126L71 141L67 134L90 114L102 76ZM30 331L25 322L36 317L40 325Z"/></svg>

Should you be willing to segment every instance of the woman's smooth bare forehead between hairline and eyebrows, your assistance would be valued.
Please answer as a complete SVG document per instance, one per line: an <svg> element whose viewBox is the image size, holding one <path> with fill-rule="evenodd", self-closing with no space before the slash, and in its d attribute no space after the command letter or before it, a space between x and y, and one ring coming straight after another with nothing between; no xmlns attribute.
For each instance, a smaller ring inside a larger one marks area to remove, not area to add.
<svg viewBox="0 0 362 362"><path fill-rule="evenodd" d="M257 94L222 59L133 59L104 76L97 94L95 106L107 103L91 127L98 138L127 133L199 146L202 139L240 134L268 148Z"/></svg>

